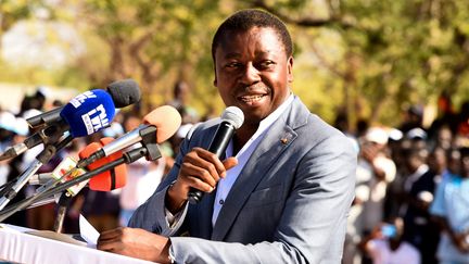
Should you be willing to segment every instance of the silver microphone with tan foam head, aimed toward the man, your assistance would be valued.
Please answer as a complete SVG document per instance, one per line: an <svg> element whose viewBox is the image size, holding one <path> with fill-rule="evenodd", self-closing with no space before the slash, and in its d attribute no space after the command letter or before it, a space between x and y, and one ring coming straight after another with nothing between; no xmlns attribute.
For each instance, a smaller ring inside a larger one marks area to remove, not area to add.
<svg viewBox="0 0 469 264"><path fill-rule="evenodd" d="M117 138L113 142L104 146L99 151L92 153L87 159L78 161L77 167L85 167L92 162L111 155L116 151L126 149L142 140L142 131L148 127L156 127L156 143L161 143L170 138L181 124L179 112L169 105L160 106L143 117L143 125Z"/></svg>

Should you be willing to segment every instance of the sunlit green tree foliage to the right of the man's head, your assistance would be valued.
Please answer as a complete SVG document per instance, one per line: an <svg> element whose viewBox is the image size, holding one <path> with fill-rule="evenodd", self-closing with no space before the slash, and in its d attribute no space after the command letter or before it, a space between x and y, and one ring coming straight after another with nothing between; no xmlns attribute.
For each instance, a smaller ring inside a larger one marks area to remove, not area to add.
<svg viewBox="0 0 469 264"><path fill-rule="evenodd" d="M345 51L340 62L325 61L324 47L314 50L320 65L341 78L342 104L351 120L365 115L395 125L405 105L427 104L443 90L467 98L469 12L464 0L329 0L322 11L316 4L309 12L308 1L250 2L295 26L341 35Z"/></svg>

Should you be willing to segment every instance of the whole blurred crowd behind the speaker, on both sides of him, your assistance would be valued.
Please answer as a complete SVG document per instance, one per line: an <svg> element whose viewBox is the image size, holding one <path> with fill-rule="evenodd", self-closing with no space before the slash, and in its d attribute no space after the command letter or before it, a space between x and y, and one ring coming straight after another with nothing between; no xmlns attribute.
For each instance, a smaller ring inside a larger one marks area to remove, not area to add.
<svg viewBox="0 0 469 264"><path fill-rule="evenodd" d="M99 231L126 226L172 167L178 146L192 125L214 117L201 117L188 104L190 88L186 83L176 83L173 91L173 99L165 104L179 111L182 125L160 146L163 158L129 164L124 188L81 190L67 210L64 232L79 232L79 214ZM48 98L47 89L40 87L25 96L18 113L0 111L0 152L35 133L27 118L62 103ZM419 105L405 111L398 127L360 120L352 131L346 117L338 114L335 127L348 136L358 153L343 263L469 263L469 102L455 111L451 98L442 95L438 106L439 115L429 127L423 126L424 111ZM138 109L125 109L109 128L74 139L38 173L53 171L66 156L78 160L79 151L92 141L135 129L142 118ZM16 178L41 151L42 146L38 146L0 162L0 186ZM11 204L34 194L36 187L27 185ZM54 203L31 208L5 223L52 230L55 210Z"/></svg>

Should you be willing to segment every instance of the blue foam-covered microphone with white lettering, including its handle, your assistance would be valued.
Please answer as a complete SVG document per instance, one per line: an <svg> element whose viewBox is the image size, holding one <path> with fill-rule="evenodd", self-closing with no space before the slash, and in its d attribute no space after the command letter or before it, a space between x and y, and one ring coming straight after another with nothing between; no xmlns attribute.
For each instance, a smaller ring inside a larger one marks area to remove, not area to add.
<svg viewBox="0 0 469 264"><path fill-rule="evenodd" d="M40 143L55 143L67 130L72 137L91 135L109 126L114 114L115 106L110 93L100 89L86 91L63 106L54 124L35 133L23 143L9 148L0 155L0 161L14 158Z"/></svg>

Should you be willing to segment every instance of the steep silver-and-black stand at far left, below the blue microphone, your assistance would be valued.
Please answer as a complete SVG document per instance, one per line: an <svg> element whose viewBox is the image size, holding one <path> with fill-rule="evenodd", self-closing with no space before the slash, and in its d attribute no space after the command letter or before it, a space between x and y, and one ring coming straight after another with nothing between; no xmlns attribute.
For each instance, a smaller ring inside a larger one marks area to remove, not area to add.
<svg viewBox="0 0 469 264"><path fill-rule="evenodd" d="M2 197L0 198L0 211L14 198L16 197L17 192L21 188L23 188L24 185L29 180L30 177L33 177L34 174L39 169L39 167L42 166L42 164L48 163L53 155L59 150L62 150L65 146L67 146L69 142L72 142L73 137L68 135L60 141L56 146L53 143L47 143L45 146L45 149L36 156L36 160L33 162L33 164L21 174L16 183L14 183L11 186L7 186L2 190Z"/></svg>

